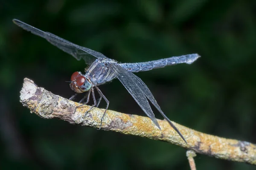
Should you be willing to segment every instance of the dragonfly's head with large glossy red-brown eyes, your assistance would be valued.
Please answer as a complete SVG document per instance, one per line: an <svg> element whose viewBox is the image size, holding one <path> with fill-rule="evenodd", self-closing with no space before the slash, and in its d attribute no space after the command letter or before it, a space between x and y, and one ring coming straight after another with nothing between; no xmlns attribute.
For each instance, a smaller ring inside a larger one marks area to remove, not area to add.
<svg viewBox="0 0 256 170"><path fill-rule="evenodd" d="M80 72L76 71L71 76L70 88L76 93L83 93L92 88L90 81Z"/></svg>

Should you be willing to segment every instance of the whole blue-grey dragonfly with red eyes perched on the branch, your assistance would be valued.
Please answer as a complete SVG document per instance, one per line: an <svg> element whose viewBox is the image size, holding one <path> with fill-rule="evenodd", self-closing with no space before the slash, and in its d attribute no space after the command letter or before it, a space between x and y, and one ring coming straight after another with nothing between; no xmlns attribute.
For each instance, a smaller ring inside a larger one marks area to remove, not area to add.
<svg viewBox="0 0 256 170"><path fill-rule="evenodd" d="M197 60L200 57L198 54L187 54L148 62L121 63L117 62L114 59L106 57L100 52L93 51L89 48L76 45L52 33L41 31L40 29L30 26L29 24L23 23L20 20L13 19L13 22L17 26L23 28L24 30L30 31L32 34L43 37L52 45L55 45L64 52L72 55L77 60L84 59L85 63L89 65L89 68L85 69L85 74L82 74L79 71L74 72L71 76L70 82L70 88L73 91L75 91L76 94L87 92L87 95L85 95L80 102L82 102L86 98L87 101L77 107L86 105L90 101L90 94L93 98L94 104L84 113L83 118L94 107L98 107L99 102L103 98L107 103L107 106L101 119L100 127L102 126L102 120L105 116L106 111L108 110L109 101L104 96L102 91L99 90L98 86L117 78L122 83L122 85L124 85L126 90L131 94L131 96L134 98L134 100L137 102L140 108L152 120L154 125L158 127L158 129L161 130L161 127L154 116L154 113L151 109L151 106L149 105L149 102L151 102L154 105L154 107L157 108L157 110L161 113L164 119L166 119L169 125L178 133L178 135L183 139L183 141L186 142L186 139L183 137L183 135L180 133L177 127L163 113L147 85L145 85L145 83L133 73L140 71L149 71L152 69L163 68L168 65L176 65L180 63L192 64L195 60ZM97 91L100 96L98 102L95 97L95 91ZM73 99L74 96L76 96L76 94L73 95L70 99Z"/></svg>

